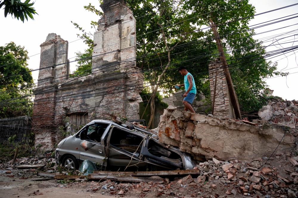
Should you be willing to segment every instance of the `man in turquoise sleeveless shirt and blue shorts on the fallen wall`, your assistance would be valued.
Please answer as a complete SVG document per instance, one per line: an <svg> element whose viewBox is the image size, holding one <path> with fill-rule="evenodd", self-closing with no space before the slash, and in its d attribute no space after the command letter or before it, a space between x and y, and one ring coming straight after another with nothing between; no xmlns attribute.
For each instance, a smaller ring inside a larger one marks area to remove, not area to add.
<svg viewBox="0 0 298 198"><path fill-rule="evenodd" d="M197 93L197 89L195 88L195 80L193 79L193 75L191 75L184 66L179 67L179 72L184 76L184 84L178 85L179 88L184 86L185 93L182 95L184 97L184 111L190 110L190 112L195 113L191 104L193 103L193 99L195 98L195 94Z"/></svg>

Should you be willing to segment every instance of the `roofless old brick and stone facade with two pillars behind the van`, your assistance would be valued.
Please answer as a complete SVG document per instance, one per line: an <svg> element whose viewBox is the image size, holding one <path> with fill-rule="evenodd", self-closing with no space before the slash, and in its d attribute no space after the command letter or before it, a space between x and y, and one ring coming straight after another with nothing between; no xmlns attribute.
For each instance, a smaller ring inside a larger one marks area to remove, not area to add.
<svg viewBox="0 0 298 198"><path fill-rule="evenodd" d="M59 35L51 33L41 44L33 91L36 146L51 148L61 140L58 128L65 126L64 116L75 118L76 125L111 113L139 119L143 74L136 67L136 20L123 1L104 0L101 7L91 74L69 78L68 42Z"/></svg>

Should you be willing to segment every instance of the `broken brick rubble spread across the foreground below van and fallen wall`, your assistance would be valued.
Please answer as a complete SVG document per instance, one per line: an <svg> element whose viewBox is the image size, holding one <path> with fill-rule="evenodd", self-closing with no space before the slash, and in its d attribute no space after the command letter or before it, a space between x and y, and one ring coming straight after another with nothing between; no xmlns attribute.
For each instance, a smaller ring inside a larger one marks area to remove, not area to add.
<svg viewBox="0 0 298 198"><path fill-rule="evenodd" d="M292 157L291 157L292 156ZM174 197L227 197L229 195L252 197L295 197L298 194L298 156L295 151L286 154L277 152L274 158L267 157L251 161L230 159L212 160L197 164L199 176L191 175L168 179L167 184L122 183L89 181L76 179L68 184L70 188L78 185L87 192L111 194L120 197L133 196L174 196ZM154 176L155 178L158 176ZM81 182L81 183L79 183ZM86 183L87 182L87 183Z"/></svg>

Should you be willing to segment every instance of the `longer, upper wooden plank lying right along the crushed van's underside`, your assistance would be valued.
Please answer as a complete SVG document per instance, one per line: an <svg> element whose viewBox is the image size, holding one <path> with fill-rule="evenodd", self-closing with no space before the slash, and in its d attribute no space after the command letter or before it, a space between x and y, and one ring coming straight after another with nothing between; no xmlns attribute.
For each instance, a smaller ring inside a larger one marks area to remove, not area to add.
<svg viewBox="0 0 298 198"><path fill-rule="evenodd" d="M118 176L134 176L134 177L152 177L152 176L184 176L199 175L199 169L191 170L174 170L174 171L150 171L150 172L110 172L110 171L94 171L97 175L118 175Z"/></svg>

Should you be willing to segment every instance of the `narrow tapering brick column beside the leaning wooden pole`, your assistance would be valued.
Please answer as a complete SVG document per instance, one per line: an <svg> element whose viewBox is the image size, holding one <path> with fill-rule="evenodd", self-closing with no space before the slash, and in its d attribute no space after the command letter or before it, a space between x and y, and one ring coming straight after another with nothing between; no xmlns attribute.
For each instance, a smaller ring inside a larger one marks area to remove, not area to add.
<svg viewBox="0 0 298 198"><path fill-rule="evenodd" d="M215 105L213 116L226 119L235 118L235 113L229 100L229 90L227 89L226 77L222 68L222 63L219 58L209 63L209 80L210 80L210 94L213 105L215 76L217 73L216 91L215 91Z"/></svg>

